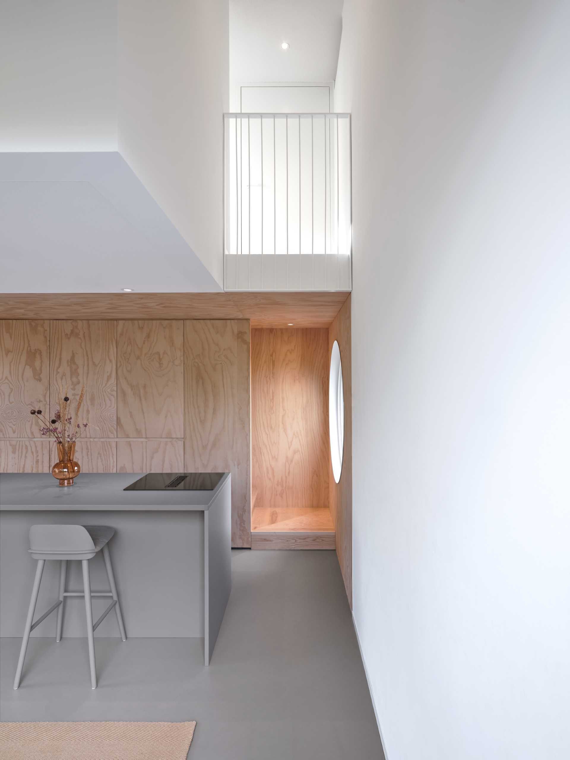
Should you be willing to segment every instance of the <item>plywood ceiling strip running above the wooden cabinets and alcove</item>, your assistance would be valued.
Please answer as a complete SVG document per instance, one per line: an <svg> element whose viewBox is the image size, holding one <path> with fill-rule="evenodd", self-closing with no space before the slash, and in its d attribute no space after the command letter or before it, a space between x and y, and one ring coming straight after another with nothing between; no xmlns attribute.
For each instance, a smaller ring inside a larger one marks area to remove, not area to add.
<svg viewBox="0 0 570 760"><path fill-rule="evenodd" d="M2 293L7 319L250 319L252 328L331 324L347 292Z"/></svg>

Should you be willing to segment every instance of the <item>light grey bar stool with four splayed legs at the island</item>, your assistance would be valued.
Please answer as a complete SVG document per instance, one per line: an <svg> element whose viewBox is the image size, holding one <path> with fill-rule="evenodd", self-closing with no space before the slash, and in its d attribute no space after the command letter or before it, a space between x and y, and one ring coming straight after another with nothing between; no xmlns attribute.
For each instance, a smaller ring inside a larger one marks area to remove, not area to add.
<svg viewBox="0 0 570 760"><path fill-rule="evenodd" d="M105 525L32 525L30 527L30 549L28 551L37 559L36 578L33 581L32 598L30 599L30 608L27 611L26 627L24 628L24 638L20 650L20 659L17 662L16 677L14 678L14 689L20 686L22 668L24 667L24 658L26 657L27 643L30 640L30 632L40 625L43 619L46 619L54 610L58 611L57 624L55 629L55 641L62 640L62 622L63 622L63 603L65 597L85 597L85 614L87 616L87 641L89 642L89 665L91 670L91 689L97 689L97 676L95 673L95 645L93 641L93 632L103 619L115 608L117 622L119 623L119 632L123 641L127 640L125 626L122 623L121 607L119 606L119 597L117 596L117 587L115 577L112 574L111 556L109 555L109 539L115 534L115 529ZM103 559L109 586L111 591L91 591L89 582L89 560L97 552L103 549ZM61 571L59 575L59 601L55 602L49 610L44 613L36 622L32 622L33 613L36 610L36 602L42 582L43 566L46 559L59 559L61 561ZM83 568L83 588L84 591L65 591L65 579L67 577L68 559L81 559ZM91 610L91 597L112 597L103 615L93 625L93 612Z"/></svg>

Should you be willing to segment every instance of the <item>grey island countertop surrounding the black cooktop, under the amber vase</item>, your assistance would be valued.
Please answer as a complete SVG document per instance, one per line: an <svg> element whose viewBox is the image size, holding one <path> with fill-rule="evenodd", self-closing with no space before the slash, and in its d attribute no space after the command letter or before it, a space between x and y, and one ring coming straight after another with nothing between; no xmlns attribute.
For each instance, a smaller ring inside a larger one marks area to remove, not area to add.
<svg viewBox="0 0 570 760"><path fill-rule="evenodd" d="M212 491L123 491L146 473L81 473L59 486L51 473L0 474L0 511L207 511L230 480Z"/></svg>

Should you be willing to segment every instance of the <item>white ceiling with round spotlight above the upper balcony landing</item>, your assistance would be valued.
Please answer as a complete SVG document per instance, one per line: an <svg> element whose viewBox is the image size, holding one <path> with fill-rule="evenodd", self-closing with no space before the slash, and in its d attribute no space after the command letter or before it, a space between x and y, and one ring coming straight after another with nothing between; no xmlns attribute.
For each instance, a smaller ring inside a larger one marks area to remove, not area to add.
<svg viewBox="0 0 570 760"><path fill-rule="evenodd" d="M230 0L230 80L333 81L343 2ZM283 41L290 44L287 51Z"/></svg>

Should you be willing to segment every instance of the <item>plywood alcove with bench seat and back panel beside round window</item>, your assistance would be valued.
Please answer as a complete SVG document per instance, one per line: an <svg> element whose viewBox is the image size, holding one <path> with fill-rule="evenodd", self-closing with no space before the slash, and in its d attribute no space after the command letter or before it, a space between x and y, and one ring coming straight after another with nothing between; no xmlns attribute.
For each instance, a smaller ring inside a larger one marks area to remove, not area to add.
<svg viewBox="0 0 570 760"><path fill-rule="evenodd" d="M252 330L252 549L334 549L328 329Z"/></svg>

